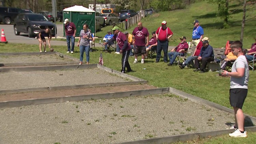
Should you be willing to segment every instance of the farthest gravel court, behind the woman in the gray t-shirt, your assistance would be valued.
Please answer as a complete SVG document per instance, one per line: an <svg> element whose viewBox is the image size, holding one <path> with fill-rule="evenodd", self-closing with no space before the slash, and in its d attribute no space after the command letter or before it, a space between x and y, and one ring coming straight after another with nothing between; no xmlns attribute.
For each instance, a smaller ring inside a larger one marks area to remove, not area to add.
<svg viewBox="0 0 256 144"><path fill-rule="evenodd" d="M58 55L0 56L1 63L67 62L73 61Z"/></svg>

